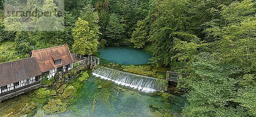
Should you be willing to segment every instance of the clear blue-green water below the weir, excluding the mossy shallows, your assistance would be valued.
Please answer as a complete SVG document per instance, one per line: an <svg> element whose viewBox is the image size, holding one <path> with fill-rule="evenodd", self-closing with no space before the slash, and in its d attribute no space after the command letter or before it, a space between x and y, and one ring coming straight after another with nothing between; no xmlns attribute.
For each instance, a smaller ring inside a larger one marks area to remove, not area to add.
<svg viewBox="0 0 256 117"><path fill-rule="evenodd" d="M99 85L102 88L97 88ZM111 81L91 76L82 87L76 103L69 105L64 113L48 116L161 117L166 112L177 115L184 102L185 98L174 96L170 104L166 104L161 97L123 89L112 84Z"/></svg>

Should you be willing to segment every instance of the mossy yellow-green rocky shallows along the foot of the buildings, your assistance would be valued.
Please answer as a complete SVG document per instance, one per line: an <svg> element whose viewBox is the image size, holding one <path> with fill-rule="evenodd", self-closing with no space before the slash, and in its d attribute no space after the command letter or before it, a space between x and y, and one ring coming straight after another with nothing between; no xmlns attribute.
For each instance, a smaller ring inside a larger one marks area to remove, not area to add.
<svg viewBox="0 0 256 117"><path fill-rule="evenodd" d="M81 87L89 77L90 71L83 68L72 70L70 81L64 84L54 84L53 78L41 84L47 84L48 87L35 89L34 91L18 95L0 103L1 117L20 117L44 115L50 113L61 113L66 110L68 104L73 103L79 95ZM76 78L73 78L75 76ZM41 110L38 113L38 110Z"/></svg>

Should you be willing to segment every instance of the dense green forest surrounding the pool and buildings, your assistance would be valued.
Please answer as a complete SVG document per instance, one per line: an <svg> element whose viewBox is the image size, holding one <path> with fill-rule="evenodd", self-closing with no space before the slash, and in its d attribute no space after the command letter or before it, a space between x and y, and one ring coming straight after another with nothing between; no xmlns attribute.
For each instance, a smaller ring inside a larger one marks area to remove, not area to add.
<svg viewBox="0 0 256 117"><path fill-rule="evenodd" d="M62 31L6 30L4 0L0 9L0 63L64 43L81 55L142 48L150 64L184 74L184 117L256 116L256 0L64 0Z"/></svg>

